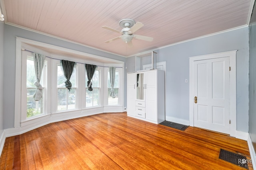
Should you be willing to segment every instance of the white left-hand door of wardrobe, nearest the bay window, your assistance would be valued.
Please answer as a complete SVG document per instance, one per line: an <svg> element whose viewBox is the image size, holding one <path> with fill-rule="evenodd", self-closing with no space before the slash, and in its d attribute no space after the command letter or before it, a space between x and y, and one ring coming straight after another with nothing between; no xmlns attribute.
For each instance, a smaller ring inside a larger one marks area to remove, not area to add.
<svg viewBox="0 0 256 170"><path fill-rule="evenodd" d="M127 74L127 114L136 115L135 99L136 99L136 73Z"/></svg>

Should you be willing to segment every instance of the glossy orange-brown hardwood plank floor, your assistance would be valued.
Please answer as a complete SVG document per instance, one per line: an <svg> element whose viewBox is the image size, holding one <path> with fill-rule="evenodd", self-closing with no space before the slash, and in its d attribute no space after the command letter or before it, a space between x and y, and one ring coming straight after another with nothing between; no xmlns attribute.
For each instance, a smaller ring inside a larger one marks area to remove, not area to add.
<svg viewBox="0 0 256 170"><path fill-rule="evenodd" d="M224 134L194 127L180 131L126 113L102 113L6 138L0 170L244 170L220 160L220 149L250 159L246 141Z"/></svg>

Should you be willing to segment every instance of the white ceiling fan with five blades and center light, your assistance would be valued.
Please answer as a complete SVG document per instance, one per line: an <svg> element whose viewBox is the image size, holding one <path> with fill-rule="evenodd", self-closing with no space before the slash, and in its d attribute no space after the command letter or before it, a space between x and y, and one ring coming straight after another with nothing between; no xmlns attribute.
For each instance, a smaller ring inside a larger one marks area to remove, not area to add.
<svg viewBox="0 0 256 170"><path fill-rule="evenodd" d="M136 39L141 39L144 41L153 41L152 37L146 37L146 36L142 36L142 35L135 35L133 34L135 31L137 31L138 29L140 29L141 27L143 27L143 23L141 22L136 22L132 19L129 18L125 18L119 21L119 25L120 27L122 27L123 29L121 31L118 31L116 29L107 27L107 26L103 26L102 28L104 29L108 29L110 31L114 31L117 33L121 33L122 35L115 37L113 39L110 39L108 41L105 41L105 43L110 43L114 40L117 40L119 38L121 38L124 42L126 42L129 46L132 46L132 39L136 38Z"/></svg>

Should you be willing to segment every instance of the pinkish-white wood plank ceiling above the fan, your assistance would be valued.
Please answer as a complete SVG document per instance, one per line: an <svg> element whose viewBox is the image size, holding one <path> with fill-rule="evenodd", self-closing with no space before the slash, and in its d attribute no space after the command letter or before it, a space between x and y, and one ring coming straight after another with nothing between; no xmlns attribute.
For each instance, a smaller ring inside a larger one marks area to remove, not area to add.
<svg viewBox="0 0 256 170"><path fill-rule="evenodd" d="M0 0L7 24L33 29L121 56L249 24L254 0ZM122 39L105 43L131 18L144 26L137 35L152 42Z"/></svg>

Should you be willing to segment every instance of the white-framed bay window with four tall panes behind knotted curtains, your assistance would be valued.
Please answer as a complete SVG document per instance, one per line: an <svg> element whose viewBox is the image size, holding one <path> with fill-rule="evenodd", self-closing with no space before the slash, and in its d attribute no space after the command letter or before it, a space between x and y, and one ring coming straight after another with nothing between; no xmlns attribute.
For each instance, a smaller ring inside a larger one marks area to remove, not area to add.
<svg viewBox="0 0 256 170"><path fill-rule="evenodd" d="M122 111L124 98L123 68L116 68L114 82L115 98L112 98L109 96L111 86L108 66L121 67L123 62L42 44L42 47L45 47L45 49L52 47L59 51L63 49L63 51L68 51L68 53L74 52L74 57L62 56L33 47L34 42L30 42L30 40L17 38L16 41L14 127L38 127L48 122L74 117ZM26 43L23 43L23 41L26 41ZM40 42L37 43L39 47ZM35 101L33 98L37 90L34 82L38 82L34 68L33 51L46 56L40 78L42 98L38 101ZM80 57L75 56L77 54ZM87 58L84 59L81 56L86 56ZM93 61L95 57L98 61ZM60 64L61 60L77 63L70 77L70 82L72 83L70 90L65 86L66 78ZM84 69L84 64L87 62L97 65L91 80L92 91L89 91L87 87L88 78Z"/></svg>

